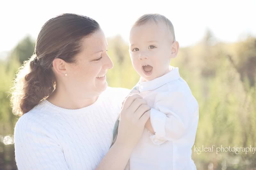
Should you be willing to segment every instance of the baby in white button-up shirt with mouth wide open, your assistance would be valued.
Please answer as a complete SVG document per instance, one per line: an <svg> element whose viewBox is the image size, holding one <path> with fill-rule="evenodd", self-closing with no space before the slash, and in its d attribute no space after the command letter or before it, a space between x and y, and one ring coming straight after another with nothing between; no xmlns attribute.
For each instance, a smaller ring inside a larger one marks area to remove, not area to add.
<svg viewBox="0 0 256 170"><path fill-rule="evenodd" d="M131 28L129 47L132 65L140 75L132 92L139 93L151 110L125 169L195 170L191 148L199 108L179 68L170 66L179 51L171 21L160 14L141 16ZM114 141L117 127L118 121Z"/></svg>

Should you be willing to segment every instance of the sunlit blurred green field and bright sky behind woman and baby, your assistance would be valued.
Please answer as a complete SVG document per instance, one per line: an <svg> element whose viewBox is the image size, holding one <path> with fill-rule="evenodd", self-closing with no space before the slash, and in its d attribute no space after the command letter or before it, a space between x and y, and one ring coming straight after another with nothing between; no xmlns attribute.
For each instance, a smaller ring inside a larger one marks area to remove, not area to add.
<svg viewBox="0 0 256 170"><path fill-rule="evenodd" d="M0 7L0 169L17 169L8 92L15 72L34 52L43 24L61 13L77 13L99 22L108 39L114 68L109 86L132 88L139 76L128 53L132 23L145 13L172 21L179 67L199 103L195 146L198 170L255 170L256 152L218 152L217 147L256 148L255 0L244 1L10 1ZM209 151L209 149L207 149Z"/></svg>

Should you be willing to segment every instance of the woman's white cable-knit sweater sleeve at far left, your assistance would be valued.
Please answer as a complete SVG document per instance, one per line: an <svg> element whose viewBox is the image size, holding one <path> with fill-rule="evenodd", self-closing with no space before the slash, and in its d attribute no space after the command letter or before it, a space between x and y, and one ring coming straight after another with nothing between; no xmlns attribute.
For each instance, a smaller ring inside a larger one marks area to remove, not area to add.
<svg viewBox="0 0 256 170"><path fill-rule="evenodd" d="M27 113L28 114L28 113ZM62 147L44 119L22 115L14 128L15 160L19 170L68 170Z"/></svg>

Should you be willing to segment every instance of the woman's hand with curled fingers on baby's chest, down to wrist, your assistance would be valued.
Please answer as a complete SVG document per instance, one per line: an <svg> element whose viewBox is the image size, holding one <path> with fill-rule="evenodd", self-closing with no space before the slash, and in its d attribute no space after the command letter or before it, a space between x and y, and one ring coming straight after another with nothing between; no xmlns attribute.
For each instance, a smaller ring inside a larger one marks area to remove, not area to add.
<svg viewBox="0 0 256 170"><path fill-rule="evenodd" d="M129 94L120 113L116 143L135 147L150 116L150 107L139 94Z"/></svg>

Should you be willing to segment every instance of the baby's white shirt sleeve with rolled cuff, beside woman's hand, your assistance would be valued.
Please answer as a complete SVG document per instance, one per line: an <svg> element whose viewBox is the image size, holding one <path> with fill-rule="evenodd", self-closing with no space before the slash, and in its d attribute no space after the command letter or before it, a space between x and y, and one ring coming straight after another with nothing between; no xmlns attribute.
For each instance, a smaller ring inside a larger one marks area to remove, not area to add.
<svg viewBox="0 0 256 170"><path fill-rule="evenodd" d="M198 103L191 92L164 92L156 96L155 107L150 110L150 122L155 135L154 144L180 139L189 130L190 122L198 119Z"/></svg>

